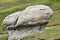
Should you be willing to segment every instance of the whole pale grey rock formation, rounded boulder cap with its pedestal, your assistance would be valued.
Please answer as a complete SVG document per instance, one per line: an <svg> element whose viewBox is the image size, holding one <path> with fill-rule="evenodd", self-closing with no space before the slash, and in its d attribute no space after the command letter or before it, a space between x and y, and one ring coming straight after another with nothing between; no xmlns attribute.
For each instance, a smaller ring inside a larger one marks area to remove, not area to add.
<svg viewBox="0 0 60 40"><path fill-rule="evenodd" d="M8 40L20 40L25 36L40 33L52 15L52 9L46 5L29 6L23 11L8 15L3 20L8 29Z"/></svg>

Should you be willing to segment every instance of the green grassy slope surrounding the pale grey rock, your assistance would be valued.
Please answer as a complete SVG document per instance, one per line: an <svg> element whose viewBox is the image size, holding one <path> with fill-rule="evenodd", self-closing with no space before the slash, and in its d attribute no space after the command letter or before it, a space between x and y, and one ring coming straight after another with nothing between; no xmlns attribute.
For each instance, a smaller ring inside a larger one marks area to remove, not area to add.
<svg viewBox="0 0 60 40"><path fill-rule="evenodd" d="M2 24L2 20L4 19L5 16L13 12L23 10L29 5L36 4L45 4L54 10L54 15L50 19L48 25L60 24L60 0L0 0L0 30L3 30L5 28L5 26ZM47 29L41 35L36 34L34 36L36 37L36 40L38 37L52 40L53 38L60 37L59 28L60 26L56 26L51 29ZM29 36L27 39L25 38L25 40L31 40L32 39L31 37ZM0 40L4 39L1 39L0 37Z"/></svg>

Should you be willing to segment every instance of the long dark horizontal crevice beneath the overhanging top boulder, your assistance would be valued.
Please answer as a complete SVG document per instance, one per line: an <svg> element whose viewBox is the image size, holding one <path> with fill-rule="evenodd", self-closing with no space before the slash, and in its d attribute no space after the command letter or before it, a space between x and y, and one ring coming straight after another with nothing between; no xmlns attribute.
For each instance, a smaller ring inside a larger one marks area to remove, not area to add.
<svg viewBox="0 0 60 40"><path fill-rule="evenodd" d="M32 28L32 27L36 27L36 26L43 26L43 25L46 25L48 22L45 22L45 23L37 23L37 24L33 24L33 25L20 25L20 26L17 26L17 27L9 27L8 30L16 30L16 29L24 29L24 28Z"/></svg>

